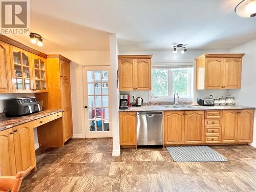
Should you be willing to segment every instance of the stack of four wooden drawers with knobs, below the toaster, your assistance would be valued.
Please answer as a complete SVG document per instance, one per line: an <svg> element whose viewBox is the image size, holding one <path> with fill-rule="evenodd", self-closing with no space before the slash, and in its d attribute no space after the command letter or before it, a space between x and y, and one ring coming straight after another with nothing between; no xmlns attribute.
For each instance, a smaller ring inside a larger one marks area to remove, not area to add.
<svg viewBox="0 0 256 192"><path fill-rule="evenodd" d="M205 111L204 120L204 143L220 143L222 111L208 110Z"/></svg>

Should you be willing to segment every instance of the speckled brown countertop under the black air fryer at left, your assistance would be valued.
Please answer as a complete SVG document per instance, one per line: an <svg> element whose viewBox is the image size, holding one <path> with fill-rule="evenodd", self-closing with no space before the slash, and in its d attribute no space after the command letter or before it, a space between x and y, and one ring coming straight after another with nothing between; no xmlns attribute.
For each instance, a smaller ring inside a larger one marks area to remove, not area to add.
<svg viewBox="0 0 256 192"><path fill-rule="evenodd" d="M38 113L33 113L30 115L20 116L20 117L6 117L3 113L0 114L0 131L7 130L11 127L27 123L29 121L33 121L42 117L46 117L48 115L52 115L62 110L45 110L40 111Z"/></svg>

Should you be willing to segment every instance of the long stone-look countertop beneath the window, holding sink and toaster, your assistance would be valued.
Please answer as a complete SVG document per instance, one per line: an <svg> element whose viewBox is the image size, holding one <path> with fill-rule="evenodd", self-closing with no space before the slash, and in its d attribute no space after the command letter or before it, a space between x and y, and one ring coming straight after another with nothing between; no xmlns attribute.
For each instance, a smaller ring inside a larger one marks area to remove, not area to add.
<svg viewBox="0 0 256 192"><path fill-rule="evenodd" d="M191 105L194 106L194 105ZM148 105L148 106L131 106L125 110L119 110L119 112L140 112L140 111L196 111L196 110L245 110L255 109L254 106L243 105L219 105L219 106L198 106L195 108L165 108L163 105Z"/></svg>

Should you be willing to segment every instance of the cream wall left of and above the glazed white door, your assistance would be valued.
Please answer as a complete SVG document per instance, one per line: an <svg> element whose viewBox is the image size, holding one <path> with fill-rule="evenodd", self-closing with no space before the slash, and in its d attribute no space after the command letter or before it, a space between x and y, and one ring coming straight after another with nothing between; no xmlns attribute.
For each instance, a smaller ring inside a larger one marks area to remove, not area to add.
<svg viewBox="0 0 256 192"><path fill-rule="evenodd" d="M73 118L73 138L85 138L82 66L110 66L109 51L50 52L61 54L71 61L70 81Z"/></svg>

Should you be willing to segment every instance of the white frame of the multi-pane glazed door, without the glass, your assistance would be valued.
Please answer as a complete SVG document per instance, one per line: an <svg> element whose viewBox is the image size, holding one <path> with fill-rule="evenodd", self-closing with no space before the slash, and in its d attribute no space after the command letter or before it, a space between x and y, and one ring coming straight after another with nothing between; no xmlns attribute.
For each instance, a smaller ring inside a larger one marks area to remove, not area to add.
<svg viewBox="0 0 256 192"><path fill-rule="evenodd" d="M88 86L87 86L87 71L108 71L108 89L109 89L109 131L95 131L90 132L88 127L89 122L89 108L83 108L84 111L84 130L86 138L108 138L112 137L112 123L111 123L111 67L110 66L82 66L82 80L83 80L83 106L88 105ZM102 106L101 106L102 108Z"/></svg>

